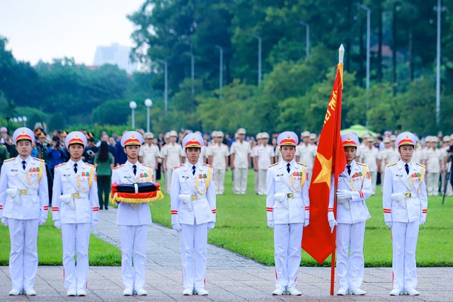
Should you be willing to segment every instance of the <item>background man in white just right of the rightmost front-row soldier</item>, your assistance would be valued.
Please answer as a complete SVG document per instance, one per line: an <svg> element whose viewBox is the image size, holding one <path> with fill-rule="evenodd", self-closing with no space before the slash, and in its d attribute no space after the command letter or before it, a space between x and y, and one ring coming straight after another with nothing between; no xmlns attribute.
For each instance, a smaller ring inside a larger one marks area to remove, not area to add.
<svg viewBox="0 0 453 302"><path fill-rule="evenodd" d="M430 137L426 143L426 189L428 195L439 194L439 177L444 169L442 152L437 149L437 137Z"/></svg>

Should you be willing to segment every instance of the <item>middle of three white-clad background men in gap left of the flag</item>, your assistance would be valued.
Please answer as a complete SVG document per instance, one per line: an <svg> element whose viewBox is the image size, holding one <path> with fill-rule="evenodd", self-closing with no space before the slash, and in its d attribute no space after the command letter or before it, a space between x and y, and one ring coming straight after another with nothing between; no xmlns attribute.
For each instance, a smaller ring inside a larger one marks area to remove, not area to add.
<svg viewBox="0 0 453 302"><path fill-rule="evenodd" d="M251 146L246 137L246 129L239 128L238 139L231 144L231 170L233 171L234 194L246 194L248 169L251 168Z"/></svg>

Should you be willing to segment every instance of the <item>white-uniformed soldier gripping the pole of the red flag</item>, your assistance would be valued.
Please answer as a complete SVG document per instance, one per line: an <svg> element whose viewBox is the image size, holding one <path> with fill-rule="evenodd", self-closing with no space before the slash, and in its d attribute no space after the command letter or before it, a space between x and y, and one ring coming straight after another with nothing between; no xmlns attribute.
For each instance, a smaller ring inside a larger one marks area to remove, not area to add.
<svg viewBox="0 0 453 302"><path fill-rule="evenodd" d="M371 218L365 200L372 194L372 181L367 165L355 161L355 152L359 146L357 136L348 133L343 134L341 139L345 149L346 166L343 173L338 175L336 216L333 214L333 178L327 212L332 232L337 226L337 295L365 295L367 292L360 289L365 267L363 243L365 221Z"/></svg>

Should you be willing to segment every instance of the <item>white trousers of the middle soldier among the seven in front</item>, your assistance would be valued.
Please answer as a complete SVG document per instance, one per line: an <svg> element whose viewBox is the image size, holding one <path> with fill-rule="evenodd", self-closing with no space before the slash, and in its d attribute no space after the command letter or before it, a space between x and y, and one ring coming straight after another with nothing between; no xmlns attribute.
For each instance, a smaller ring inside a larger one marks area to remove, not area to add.
<svg viewBox="0 0 453 302"><path fill-rule="evenodd" d="M205 288L207 223L181 224L179 234L184 289Z"/></svg>

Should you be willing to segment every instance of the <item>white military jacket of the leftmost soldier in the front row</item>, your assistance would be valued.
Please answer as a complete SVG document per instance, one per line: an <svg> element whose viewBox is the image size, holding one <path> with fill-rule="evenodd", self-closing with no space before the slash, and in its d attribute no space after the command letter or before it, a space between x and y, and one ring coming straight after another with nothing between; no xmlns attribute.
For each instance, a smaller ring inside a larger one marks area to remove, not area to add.
<svg viewBox="0 0 453 302"><path fill-rule="evenodd" d="M0 176L0 217L47 219L49 191L45 163L28 156L25 170L21 157L4 161Z"/></svg>

